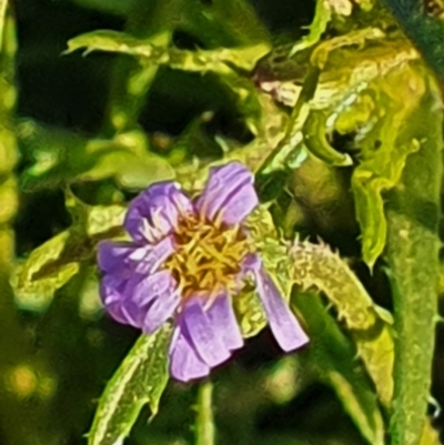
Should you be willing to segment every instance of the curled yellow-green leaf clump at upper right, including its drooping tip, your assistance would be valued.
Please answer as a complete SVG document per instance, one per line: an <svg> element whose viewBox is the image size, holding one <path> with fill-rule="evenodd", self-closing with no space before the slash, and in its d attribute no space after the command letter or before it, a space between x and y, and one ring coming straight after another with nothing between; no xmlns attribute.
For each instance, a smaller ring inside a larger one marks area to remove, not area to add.
<svg viewBox="0 0 444 445"><path fill-rule="evenodd" d="M383 37L381 30L366 28L321 43L313 51L311 61L322 71L313 70L306 77L286 136L278 146L294 146L300 133L299 143L315 156L347 166L353 163L350 154L337 152L326 135L333 130L356 133L360 152L352 190L363 257L370 267L383 252L386 239L382 193L398 183L407 155L417 150L413 141L401 142L403 125L424 93L423 74L406 64L417 54L402 39L371 44ZM356 53L356 44L367 44L369 49ZM344 68L347 59L352 64ZM405 91L411 91L406 98Z"/></svg>

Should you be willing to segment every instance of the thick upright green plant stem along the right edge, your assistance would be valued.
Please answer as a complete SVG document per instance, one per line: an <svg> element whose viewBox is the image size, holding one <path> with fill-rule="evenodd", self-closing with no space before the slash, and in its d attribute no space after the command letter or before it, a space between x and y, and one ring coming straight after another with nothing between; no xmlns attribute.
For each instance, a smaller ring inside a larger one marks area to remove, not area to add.
<svg viewBox="0 0 444 445"><path fill-rule="evenodd" d="M420 150L407 158L401 184L387 194L387 250L395 318L392 445L417 445L426 417L437 315L442 113L428 82L408 118L403 141Z"/></svg>

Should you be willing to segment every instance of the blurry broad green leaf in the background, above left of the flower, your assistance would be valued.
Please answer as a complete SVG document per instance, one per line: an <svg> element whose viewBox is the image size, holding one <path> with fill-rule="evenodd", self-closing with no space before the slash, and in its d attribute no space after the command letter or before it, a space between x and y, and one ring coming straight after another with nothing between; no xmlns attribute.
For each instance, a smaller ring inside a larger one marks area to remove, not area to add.
<svg viewBox="0 0 444 445"><path fill-rule="evenodd" d="M147 135L139 130L121 132L110 140L85 141L72 132L27 120L18 125L18 135L31 164L20 178L23 190L109 178L123 189L141 190L174 178L171 165L150 152Z"/></svg>

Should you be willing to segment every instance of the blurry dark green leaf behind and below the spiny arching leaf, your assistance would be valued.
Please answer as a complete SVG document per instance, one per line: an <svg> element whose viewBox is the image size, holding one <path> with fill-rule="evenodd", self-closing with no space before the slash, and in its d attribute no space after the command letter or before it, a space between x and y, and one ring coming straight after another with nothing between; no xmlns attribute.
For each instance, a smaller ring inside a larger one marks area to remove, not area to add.
<svg viewBox="0 0 444 445"><path fill-rule="evenodd" d="M385 431L377 398L371 381L354 363L353 343L341 332L317 296L293 292L291 303L304 318L310 337L310 345L300 353L300 360L333 387L367 443L384 445Z"/></svg>

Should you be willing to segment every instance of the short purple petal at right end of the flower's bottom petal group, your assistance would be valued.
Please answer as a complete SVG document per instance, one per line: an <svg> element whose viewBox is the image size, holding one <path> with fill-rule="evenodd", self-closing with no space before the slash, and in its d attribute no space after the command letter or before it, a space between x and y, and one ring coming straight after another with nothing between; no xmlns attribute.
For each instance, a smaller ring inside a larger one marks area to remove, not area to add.
<svg viewBox="0 0 444 445"><path fill-rule="evenodd" d="M234 316L233 307L228 295L219 296L206 311L213 332L230 351L243 346L241 330Z"/></svg>

